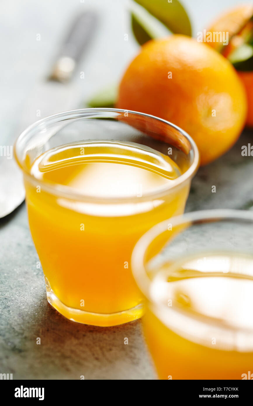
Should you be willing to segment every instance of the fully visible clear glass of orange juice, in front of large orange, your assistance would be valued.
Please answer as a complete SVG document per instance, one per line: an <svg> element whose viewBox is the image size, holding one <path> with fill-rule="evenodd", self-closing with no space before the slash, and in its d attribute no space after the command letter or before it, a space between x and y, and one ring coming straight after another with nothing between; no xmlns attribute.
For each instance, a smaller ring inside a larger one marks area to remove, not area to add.
<svg viewBox="0 0 253 406"><path fill-rule="evenodd" d="M141 317L132 249L184 211L199 160L190 136L147 114L82 109L28 127L15 156L48 302L96 326Z"/></svg>

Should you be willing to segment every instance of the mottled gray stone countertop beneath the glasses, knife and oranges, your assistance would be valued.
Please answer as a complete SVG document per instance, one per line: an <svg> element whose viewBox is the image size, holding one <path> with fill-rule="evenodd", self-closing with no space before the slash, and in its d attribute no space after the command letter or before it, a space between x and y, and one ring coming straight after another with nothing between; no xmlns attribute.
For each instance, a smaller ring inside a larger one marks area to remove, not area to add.
<svg viewBox="0 0 253 406"><path fill-rule="evenodd" d="M105 4L106 3L106 4ZM97 9L101 17L89 55L82 61L87 72L82 98L119 78L137 45L130 35L125 2L71 0L50 2L3 1L0 29L5 30L0 144L11 136L27 89L48 69L48 60L61 41L69 14L80 7ZM208 19L237 1L184 1L194 32ZM1 6L2 8L2 6ZM205 15L205 19L204 16ZM6 35L6 32L8 35ZM36 34L41 33L41 43ZM2 33L3 34L3 33ZM13 51L15 48L15 52ZM21 80L22 78L22 80ZM15 119L13 119L15 117ZM241 147L252 143L246 131L231 151L201 168L192 181L186 211L210 208L253 209L253 160L242 157ZM212 186L216 193L212 193ZM23 203L0 220L0 372L13 379L154 379L155 374L141 335L141 322L97 328L69 322L48 304L43 272L36 268ZM41 345L36 344L37 337ZM128 337L128 345L124 338Z"/></svg>

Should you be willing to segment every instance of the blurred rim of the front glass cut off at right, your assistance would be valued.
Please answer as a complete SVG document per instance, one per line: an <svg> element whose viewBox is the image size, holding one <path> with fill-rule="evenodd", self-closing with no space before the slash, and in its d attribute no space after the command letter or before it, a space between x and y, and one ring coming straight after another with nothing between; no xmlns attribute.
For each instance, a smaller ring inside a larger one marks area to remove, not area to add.
<svg viewBox="0 0 253 406"><path fill-rule="evenodd" d="M188 320L197 320L204 322L205 324L210 324L210 318L205 315L197 314L192 315L187 310L181 309L180 307L173 306L167 307L164 303L158 303L151 298L149 294L149 288L151 286L151 279L147 276L147 267L145 264L145 255L149 249L149 246L159 235L168 231L168 223L173 226L183 225L184 223L189 223L189 228L194 224L203 224L208 222L218 222L218 221L244 221L252 222L253 225L253 213L248 210L238 210L238 209L210 209L210 210L199 210L196 212L189 212L179 216L168 218L162 222L156 224L154 227L149 229L145 234L141 236L138 240L131 256L131 268L134 279L138 285L138 288L141 290L142 294L145 296L145 299L151 304L153 309L156 309L155 312L159 318L160 314L163 314L164 318L167 318L168 311L172 311L174 314L180 314L188 318ZM179 234L181 231L179 231ZM165 242L166 244L166 242ZM160 251L164 248L162 244ZM160 252L159 251L159 252ZM178 258L175 259L175 262L178 261ZM173 264L172 264L173 267ZM211 323L213 324L213 323ZM220 328L220 327L219 327ZM223 330L231 330L229 326L223 326ZM243 330L238 328L238 330ZM251 334L253 333L253 329Z"/></svg>

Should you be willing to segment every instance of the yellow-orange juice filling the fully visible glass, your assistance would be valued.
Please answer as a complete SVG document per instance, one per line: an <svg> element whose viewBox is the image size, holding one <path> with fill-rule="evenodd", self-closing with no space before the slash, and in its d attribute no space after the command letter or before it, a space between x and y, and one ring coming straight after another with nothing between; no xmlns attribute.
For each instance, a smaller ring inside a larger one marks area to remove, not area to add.
<svg viewBox="0 0 253 406"><path fill-rule="evenodd" d="M181 174L179 167L143 145L97 140L47 151L32 164L31 173L38 186L46 181L76 193L57 196L43 184L38 188L25 180L30 230L48 289L77 312L59 308L57 300L52 305L86 324L113 325L140 317L138 309L125 318L102 316L143 301L130 269L132 249L147 229L184 211L189 184L162 197L145 195L171 186Z"/></svg>

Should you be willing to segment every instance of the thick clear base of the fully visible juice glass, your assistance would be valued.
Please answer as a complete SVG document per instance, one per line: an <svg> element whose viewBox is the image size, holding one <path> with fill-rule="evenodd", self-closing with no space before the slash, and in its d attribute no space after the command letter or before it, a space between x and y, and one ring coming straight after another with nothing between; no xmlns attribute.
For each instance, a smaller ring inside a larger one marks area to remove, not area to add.
<svg viewBox="0 0 253 406"><path fill-rule="evenodd" d="M139 319L143 315L143 304L138 304L132 309L124 310L118 313L91 313L80 309L68 307L54 294L52 289L46 286L48 303L54 309L72 322L89 324L90 326L110 327L117 326Z"/></svg>

